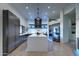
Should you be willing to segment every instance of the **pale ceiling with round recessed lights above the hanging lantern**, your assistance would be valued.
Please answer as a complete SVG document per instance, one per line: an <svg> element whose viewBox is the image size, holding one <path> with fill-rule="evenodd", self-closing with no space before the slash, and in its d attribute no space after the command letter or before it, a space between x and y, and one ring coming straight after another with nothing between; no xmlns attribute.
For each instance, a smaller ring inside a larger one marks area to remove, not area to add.
<svg viewBox="0 0 79 59"><path fill-rule="evenodd" d="M48 17L57 19L60 17L60 10L69 4L67 3L10 3L25 18L36 18L37 8L39 8L39 17Z"/></svg>

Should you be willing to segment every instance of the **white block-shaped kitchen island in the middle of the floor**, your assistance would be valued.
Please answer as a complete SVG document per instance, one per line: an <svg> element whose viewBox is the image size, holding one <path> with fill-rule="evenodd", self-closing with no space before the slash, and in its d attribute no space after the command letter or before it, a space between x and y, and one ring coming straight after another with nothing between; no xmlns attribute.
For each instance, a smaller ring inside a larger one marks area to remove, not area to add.
<svg viewBox="0 0 79 59"><path fill-rule="evenodd" d="M32 34L27 40L27 51L48 51L48 39L43 34Z"/></svg>

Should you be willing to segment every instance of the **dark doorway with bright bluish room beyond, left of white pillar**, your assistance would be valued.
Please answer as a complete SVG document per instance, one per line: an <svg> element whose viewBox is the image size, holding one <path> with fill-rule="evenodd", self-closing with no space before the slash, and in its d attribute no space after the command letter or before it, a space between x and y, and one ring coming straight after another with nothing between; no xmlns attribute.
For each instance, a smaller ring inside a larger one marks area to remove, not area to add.
<svg viewBox="0 0 79 59"><path fill-rule="evenodd" d="M49 26L49 37L52 41L60 42L60 23Z"/></svg>

